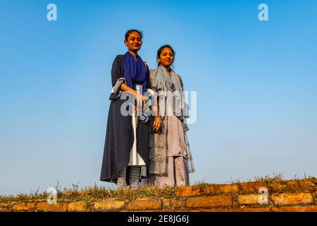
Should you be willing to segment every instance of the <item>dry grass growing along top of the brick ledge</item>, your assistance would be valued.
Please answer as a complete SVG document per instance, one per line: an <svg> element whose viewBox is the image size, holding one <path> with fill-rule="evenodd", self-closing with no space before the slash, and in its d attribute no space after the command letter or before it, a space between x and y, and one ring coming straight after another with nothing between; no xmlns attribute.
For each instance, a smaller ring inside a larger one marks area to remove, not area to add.
<svg viewBox="0 0 317 226"><path fill-rule="evenodd" d="M282 173L275 174L273 176L254 177L256 182L266 182L271 184L272 182L285 182L292 179L285 180L282 177ZM295 175L294 179L299 179ZM307 176L304 174L303 179L315 179L316 177ZM251 181L249 181L251 182ZM58 183L58 182L57 182ZM228 184L240 184L240 179L232 180ZM209 186L207 182L195 182L192 186ZM139 189L111 189L105 186L94 186L85 187L84 189L78 189L78 184L73 184L72 189L60 188L59 183L55 186L57 191L58 202L74 202L74 201L99 201L105 198L115 198L116 200L132 201L136 198L171 198L175 196L175 187L166 186L159 188L157 186L144 186ZM0 196L0 203L12 203L12 202L35 202L35 201L46 201L49 194L46 192L39 194L38 190L31 194L18 194L16 196Z"/></svg>

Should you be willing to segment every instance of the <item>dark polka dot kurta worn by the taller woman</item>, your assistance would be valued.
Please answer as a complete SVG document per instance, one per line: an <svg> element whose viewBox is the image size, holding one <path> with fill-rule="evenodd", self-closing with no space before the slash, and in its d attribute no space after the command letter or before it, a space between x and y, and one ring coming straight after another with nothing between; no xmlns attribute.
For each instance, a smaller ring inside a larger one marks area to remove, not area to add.
<svg viewBox="0 0 317 226"><path fill-rule="evenodd" d="M147 88L150 88L148 67L146 76ZM111 69L112 86L116 84L118 78L124 78L124 55L121 54L113 61ZM132 116L123 116L120 113L120 107L126 100L120 100L120 97L114 99L110 97L111 103L108 112L100 180L117 183L119 172L125 169L129 163L130 150L135 137L132 128ZM137 124L137 153L147 166L149 165L150 129L150 120L145 124L142 121ZM149 167L147 167L147 171L148 169ZM128 175L127 173L127 177ZM129 182L128 178L127 182Z"/></svg>

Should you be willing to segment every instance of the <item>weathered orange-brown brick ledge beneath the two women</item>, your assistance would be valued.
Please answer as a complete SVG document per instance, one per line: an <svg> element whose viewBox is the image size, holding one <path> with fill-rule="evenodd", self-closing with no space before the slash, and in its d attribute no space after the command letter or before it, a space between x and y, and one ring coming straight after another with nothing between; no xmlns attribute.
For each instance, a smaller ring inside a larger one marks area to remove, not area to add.
<svg viewBox="0 0 317 226"><path fill-rule="evenodd" d="M259 194L259 189L266 190ZM266 201L263 197L267 197ZM0 198L1 201L1 198ZM138 198L132 201L46 201L0 203L0 212L54 211L231 211L231 212L317 212L317 179L281 182L244 182L179 187L171 198Z"/></svg>

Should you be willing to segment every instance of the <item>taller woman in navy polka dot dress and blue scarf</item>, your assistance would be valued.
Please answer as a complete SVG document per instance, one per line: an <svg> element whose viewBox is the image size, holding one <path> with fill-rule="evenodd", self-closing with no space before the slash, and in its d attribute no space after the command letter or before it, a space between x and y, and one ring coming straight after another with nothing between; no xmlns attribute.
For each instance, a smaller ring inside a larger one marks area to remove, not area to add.
<svg viewBox="0 0 317 226"><path fill-rule="evenodd" d="M144 93L150 88L149 68L137 54L142 46L142 32L128 30L124 43L128 52L116 56L111 69L113 91L100 180L114 182L119 189L128 186L135 189L148 174L151 126L149 121L139 120L134 105L130 106L130 114L123 114L122 106L126 106L127 100L120 97L128 94L138 103L146 104Z"/></svg>

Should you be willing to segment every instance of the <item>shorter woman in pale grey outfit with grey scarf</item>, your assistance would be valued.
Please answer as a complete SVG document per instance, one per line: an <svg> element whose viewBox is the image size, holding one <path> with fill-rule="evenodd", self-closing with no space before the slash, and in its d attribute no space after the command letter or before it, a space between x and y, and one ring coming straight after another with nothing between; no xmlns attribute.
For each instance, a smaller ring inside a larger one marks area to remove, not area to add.
<svg viewBox="0 0 317 226"><path fill-rule="evenodd" d="M157 95L149 145L149 184L161 187L187 186L189 172L194 172L186 138L188 109L184 85L170 68L174 57L173 48L164 45L157 52L159 66L149 72L151 89Z"/></svg>

